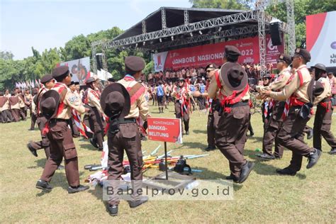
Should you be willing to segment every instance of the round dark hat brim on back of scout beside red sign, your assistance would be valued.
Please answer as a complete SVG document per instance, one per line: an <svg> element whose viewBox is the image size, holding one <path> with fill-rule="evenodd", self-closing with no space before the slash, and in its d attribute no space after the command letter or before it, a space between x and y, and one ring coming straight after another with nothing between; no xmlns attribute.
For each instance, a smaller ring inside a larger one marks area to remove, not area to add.
<svg viewBox="0 0 336 224"><path fill-rule="evenodd" d="M121 94L123 94L123 96L125 96L125 104L123 106L121 114L119 115L119 118L128 116L128 113L130 113L130 94L128 94L127 89L118 82L109 84L101 93L101 108L103 109L103 113L105 113L106 116L108 117L113 116L112 111L106 110L106 103L105 103L106 96L113 91L118 91Z"/></svg>

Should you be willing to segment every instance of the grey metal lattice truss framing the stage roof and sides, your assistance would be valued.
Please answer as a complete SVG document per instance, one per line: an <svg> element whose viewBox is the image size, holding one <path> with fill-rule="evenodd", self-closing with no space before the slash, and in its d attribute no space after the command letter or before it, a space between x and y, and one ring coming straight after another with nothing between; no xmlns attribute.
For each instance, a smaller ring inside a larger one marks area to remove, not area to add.
<svg viewBox="0 0 336 224"><path fill-rule="evenodd" d="M287 0L291 1L291 0ZM260 65L262 67L262 76L266 74L266 32L269 27L269 22L272 17L267 16L264 13L264 1L261 1L259 5L256 6L256 10L253 11L242 11L240 13L234 13L228 16L220 16L218 18L211 18L203 21L198 21L196 23L189 23L189 11L184 10L184 24L181 26L175 26L172 28L167 28L166 12L165 8L161 8L162 17L162 29L147 32L145 19L141 21L142 24L142 34L130 36L128 38L122 38L120 40L109 40L109 41L98 41L91 43L92 48L92 59L93 59L93 69L96 72L96 50L101 48L106 50L109 48L123 48L123 47L133 47L138 50L157 52L169 49L169 47L185 46L188 44L204 43L205 41L221 41L228 39L240 39L246 38L248 36L259 36L259 54L260 54ZM249 26L237 26L237 24L253 22L254 24ZM293 24L291 24L293 25ZM233 28L225 29L225 26L230 26ZM237 27L235 27L237 26ZM202 33L202 30L214 30L213 32ZM286 23L280 23L280 30L283 33L289 34L293 33L289 30ZM295 31L294 31L295 32ZM199 35L198 35L199 33ZM188 35L188 37L180 38L181 35ZM118 37L117 37L118 38ZM171 38L171 41L164 41L163 38ZM159 43L157 43L159 40ZM293 37L289 37L289 41L295 40ZM290 47L295 43L288 43ZM292 51L293 49L291 49ZM106 63L104 63L104 67ZM106 66L107 67L107 66ZM106 68L107 69L107 68Z"/></svg>

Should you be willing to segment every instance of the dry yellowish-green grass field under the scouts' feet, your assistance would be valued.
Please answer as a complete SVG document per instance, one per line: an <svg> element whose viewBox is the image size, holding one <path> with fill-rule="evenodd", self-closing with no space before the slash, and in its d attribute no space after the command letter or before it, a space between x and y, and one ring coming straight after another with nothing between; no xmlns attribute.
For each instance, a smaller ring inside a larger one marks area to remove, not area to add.
<svg viewBox="0 0 336 224"><path fill-rule="evenodd" d="M159 114L152 107L152 116L174 117L173 107ZM336 117L333 116L332 132L336 134ZM184 145L168 143L172 155L204 154L207 116L194 112L191 115L191 135L184 136ZM309 125L313 125L313 118ZM282 177L276 168L289 164L291 152L284 158L262 162L255 156L256 148L262 147L262 119L252 116L255 135L245 145L245 157L256 163L244 184L235 184L233 201L149 201L144 206L130 209L121 201L119 214L112 218L106 212L100 187L79 194L67 193L64 170L57 170L51 181L54 189L45 194L35 189L36 181L45 164L43 150L38 157L28 152L29 140L40 140L38 130L28 131L30 119L20 123L0 124L1 130L1 223L334 223L336 212L335 168L336 157L329 155L330 147L323 140L323 155L312 169L303 167L295 177ZM311 140L306 140L312 145ZM88 177L85 164L99 164L101 152L88 141L75 139L79 155L81 182ZM160 142L142 142L142 150L151 152ZM158 154L163 153L163 143ZM188 164L203 169L198 179L225 179L230 174L228 161L215 150L208 157L190 159ZM146 175L155 174L154 171Z"/></svg>

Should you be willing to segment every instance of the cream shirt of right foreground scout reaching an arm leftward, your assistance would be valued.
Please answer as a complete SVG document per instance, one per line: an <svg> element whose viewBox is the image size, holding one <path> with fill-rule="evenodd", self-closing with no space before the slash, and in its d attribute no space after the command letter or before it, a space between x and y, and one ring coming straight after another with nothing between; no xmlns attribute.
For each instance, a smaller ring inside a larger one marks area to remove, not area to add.
<svg viewBox="0 0 336 224"><path fill-rule="evenodd" d="M298 70L301 71L303 84L300 85L300 78L298 77ZM271 98L277 101L285 101L294 94L299 101L304 103L309 102L308 98L308 85L310 83L311 76L306 65L301 65L296 69L295 74L293 74L293 79L287 84L282 91L275 92L271 91Z"/></svg>

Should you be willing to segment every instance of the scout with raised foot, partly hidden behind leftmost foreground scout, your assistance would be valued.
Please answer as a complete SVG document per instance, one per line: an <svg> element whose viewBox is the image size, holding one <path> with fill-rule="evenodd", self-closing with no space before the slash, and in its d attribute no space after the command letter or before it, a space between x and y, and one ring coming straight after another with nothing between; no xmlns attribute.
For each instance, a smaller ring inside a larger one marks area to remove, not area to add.
<svg viewBox="0 0 336 224"><path fill-rule="evenodd" d="M40 130L42 140L38 142L29 142L27 147L35 157L38 157L36 150L44 149L45 157L48 159L50 157L50 142L47 138L47 135L43 134L43 128L45 128L47 119L40 114L40 99L47 90L52 89L52 87L55 85L55 79L52 78L51 74L46 74L41 78L41 83L43 84L43 87L38 90L38 94L34 97L33 105L35 108L34 113L38 117L36 123L38 123L38 129Z"/></svg>

